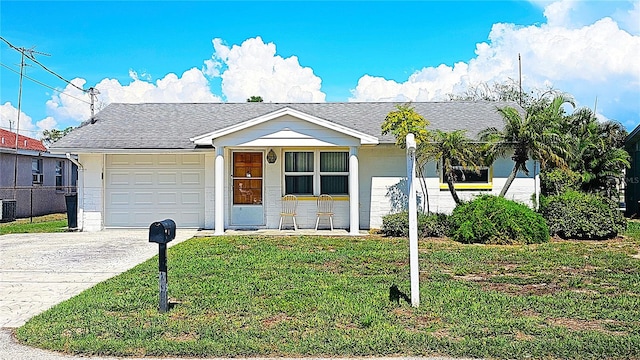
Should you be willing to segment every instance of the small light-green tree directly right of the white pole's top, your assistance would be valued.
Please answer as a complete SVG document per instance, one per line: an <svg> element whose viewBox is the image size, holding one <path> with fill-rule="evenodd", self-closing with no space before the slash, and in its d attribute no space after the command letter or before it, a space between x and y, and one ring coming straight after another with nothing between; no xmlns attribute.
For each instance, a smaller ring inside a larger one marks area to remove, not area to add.
<svg viewBox="0 0 640 360"><path fill-rule="evenodd" d="M462 203L455 188L460 167L478 171L481 162L479 154L477 143L466 136L466 130L433 132L433 142L425 156L442 164L442 177L457 205Z"/></svg>

